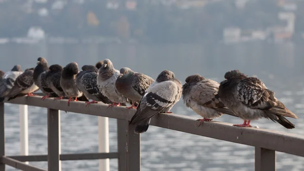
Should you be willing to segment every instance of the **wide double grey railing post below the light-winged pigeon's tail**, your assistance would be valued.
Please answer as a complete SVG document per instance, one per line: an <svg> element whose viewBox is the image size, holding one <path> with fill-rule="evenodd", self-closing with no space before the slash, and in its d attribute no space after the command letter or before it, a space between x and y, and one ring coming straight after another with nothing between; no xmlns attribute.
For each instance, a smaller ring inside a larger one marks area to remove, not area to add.
<svg viewBox="0 0 304 171"><path fill-rule="evenodd" d="M140 135L126 120L117 120L119 171L140 171Z"/></svg>

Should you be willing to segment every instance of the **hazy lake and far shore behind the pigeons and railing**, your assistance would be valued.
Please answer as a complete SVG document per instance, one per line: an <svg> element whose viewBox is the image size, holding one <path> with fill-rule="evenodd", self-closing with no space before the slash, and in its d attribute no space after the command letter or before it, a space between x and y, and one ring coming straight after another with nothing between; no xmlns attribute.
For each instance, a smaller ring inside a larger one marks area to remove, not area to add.
<svg viewBox="0 0 304 171"><path fill-rule="evenodd" d="M170 70L183 84L193 74L220 82L239 69L260 78L299 117L290 119L293 130L267 119L252 125L303 135L303 8L303 1L290 0L0 0L0 70L34 67L40 56L80 67L109 58L116 69L154 79ZM18 155L18 107L5 107L6 154ZM29 154L46 154L47 110L28 108ZM172 112L200 118L182 101ZM109 119L110 151L117 150L116 129ZM97 131L95 116L61 113L62 153L97 152ZM150 126L141 135L141 164L143 171L252 171L254 148ZM63 161L62 170L98 170L98 161ZM110 170L117 170L116 159ZM304 158L277 152L277 170L304 170Z"/></svg>

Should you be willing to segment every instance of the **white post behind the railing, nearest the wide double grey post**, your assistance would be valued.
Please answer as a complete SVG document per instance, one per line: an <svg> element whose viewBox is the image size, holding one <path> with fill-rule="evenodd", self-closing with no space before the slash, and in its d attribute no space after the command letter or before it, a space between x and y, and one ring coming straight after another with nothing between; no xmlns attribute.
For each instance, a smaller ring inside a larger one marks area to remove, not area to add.
<svg viewBox="0 0 304 171"><path fill-rule="evenodd" d="M109 118L98 117L98 152L109 152ZM109 171L110 160L99 160L99 171Z"/></svg>

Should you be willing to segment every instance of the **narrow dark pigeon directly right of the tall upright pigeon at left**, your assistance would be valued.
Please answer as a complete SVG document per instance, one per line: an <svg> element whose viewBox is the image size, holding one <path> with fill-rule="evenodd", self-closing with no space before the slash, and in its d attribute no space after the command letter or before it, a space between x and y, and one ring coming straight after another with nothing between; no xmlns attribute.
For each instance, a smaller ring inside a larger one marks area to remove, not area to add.
<svg viewBox="0 0 304 171"><path fill-rule="evenodd" d="M50 87L59 97L55 97L56 99L63 99L65 96L64 91L62 90L62 87L60 86L60 78L62 73L62 66L58 64L54 64L50 66L50 71L47 73L47 85Z"/></svg>

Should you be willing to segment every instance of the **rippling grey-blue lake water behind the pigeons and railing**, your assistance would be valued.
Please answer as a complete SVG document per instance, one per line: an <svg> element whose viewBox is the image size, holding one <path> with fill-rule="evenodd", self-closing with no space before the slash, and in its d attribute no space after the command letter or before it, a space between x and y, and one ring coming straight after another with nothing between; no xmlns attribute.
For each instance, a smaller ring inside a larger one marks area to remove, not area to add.
<svg viewBox="0 0 304 171"><path fill-rule="evenodd" d="M224 73L239 69L260 78L276 92L286 107L299 119L290 119L296 129L287 130L267 119L253 121L260 128L304 135L304 48L302 45L248 43L235 45L171 44L5 44L0 45L0 69L10 70L14 64L23 69L34 67L39 56L49 64L66 65L71 61L95 64L111 59L116 69L130 67L156 79L163 70L175 73L184 83L187 76L200 74L222 81ZM5 105L6 154L18 155L19 110L16 105ZM47 110L29 109L29 154L47 154ZM200 118L179 101L172 112ZM215 119L242 123L241 119L223 116ZM61 113L62 153L89 153L98 151L97 117L75 113ZM109 119L110 151L117 151L116 120ZM47 162L31 164L47 168ZM254 148L202 136L150 126L141 135L141 166L143 171L166 170L254 170ZM7 170L15 170L7 167ZM63 161L62 170L98 170L98 160ZM117 159L110 160L110 170L117 170ZM277 152L277 170L304 170L304 158Z"/></svg>

